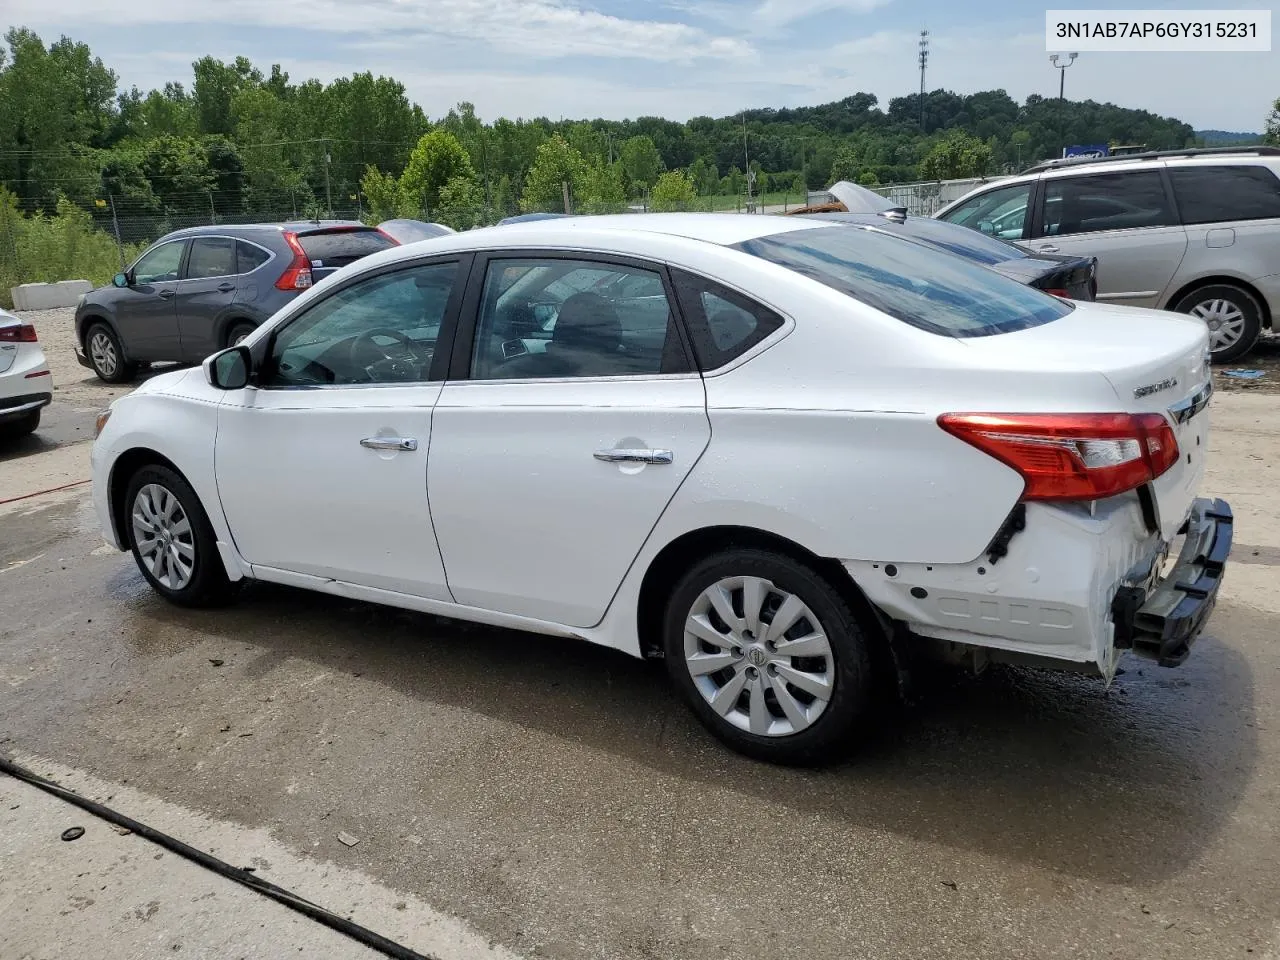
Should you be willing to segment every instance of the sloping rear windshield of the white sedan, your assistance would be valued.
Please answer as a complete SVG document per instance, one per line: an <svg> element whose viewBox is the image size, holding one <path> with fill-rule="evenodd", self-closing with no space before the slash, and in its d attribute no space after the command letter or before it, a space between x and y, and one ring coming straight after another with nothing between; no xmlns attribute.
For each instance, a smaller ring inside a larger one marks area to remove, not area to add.
<svg viewBox="0 0 1280 960"><path fill-rule="evenodd" d="M1073 310L984 266L874 230L792 230L736 248L942 337L1027 330Z"/></svg>

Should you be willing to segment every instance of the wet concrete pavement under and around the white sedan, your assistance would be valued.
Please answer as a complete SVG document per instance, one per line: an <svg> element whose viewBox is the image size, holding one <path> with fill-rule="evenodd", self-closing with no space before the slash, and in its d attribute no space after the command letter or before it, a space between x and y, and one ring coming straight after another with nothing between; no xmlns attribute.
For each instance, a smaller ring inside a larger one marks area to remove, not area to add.
<svg viewBox="0 0 1280 960"><path fill-rule="evenodd" d="M35 320L58 406L0 452L0 500L87 477L118 392L69 357L65 314ZM0 504L0 754L439 956L1274 960L1277 410L1266 385L1215 401L1204 493L1236 548L1187 666L1130 659L1110 690L993 669L817 773L718 748L654 664L274 586L182 611L104 548L87 488ZM27 803L5 790L0 835ZM0 905L35 890L90 931L170 909L140 892L93 920L29 881L0 872ZM15 956L60 955L40 929Z"/></svg>

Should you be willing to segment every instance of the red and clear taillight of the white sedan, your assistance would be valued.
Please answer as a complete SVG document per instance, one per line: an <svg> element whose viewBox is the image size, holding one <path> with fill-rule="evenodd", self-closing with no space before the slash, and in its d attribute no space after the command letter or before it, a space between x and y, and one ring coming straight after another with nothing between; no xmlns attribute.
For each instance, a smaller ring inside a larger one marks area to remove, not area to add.
<svg viewBox="0 0 1280 960"><path fill-rule="evenodd" d="M938 426L1027 481L1024 500L1101 500L1178 462L1160 413L943 413Z"/></svg>

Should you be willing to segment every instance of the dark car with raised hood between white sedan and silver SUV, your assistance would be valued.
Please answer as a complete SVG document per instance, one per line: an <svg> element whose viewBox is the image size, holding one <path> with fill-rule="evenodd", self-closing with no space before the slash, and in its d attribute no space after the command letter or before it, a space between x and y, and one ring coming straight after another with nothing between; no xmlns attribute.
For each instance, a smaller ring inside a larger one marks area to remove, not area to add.
<svg viewBox="0 0 1280 960"><path fill-rule="evenodd" d="M837 183L831 187L831 204L803 207L792 214L837 220L945 250L1068 300L1094 300L1097 294L1097 257L1033 253L1016 243L946 220L909 216L891 200L854 183Z"/></svg>

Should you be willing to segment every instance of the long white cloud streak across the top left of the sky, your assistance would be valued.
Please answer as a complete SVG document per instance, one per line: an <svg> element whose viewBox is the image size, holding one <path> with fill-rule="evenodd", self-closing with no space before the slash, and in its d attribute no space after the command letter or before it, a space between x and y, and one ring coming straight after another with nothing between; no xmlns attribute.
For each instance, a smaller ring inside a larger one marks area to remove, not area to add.
<svg viewBox="0 0 1280 960"><path fill-rule="evenodd" d="M54 9L51 9L54 8ZM13 22L114 23L118 13L99 0L13 0ZM428 52L431 38L483 42L524 56L628 58L657 61L742 60L751 45L676 20L614 17L566 0L168 0L129 12L129 23L236 24L238 28L325 31L344 36L394 36Z"/></svg>

